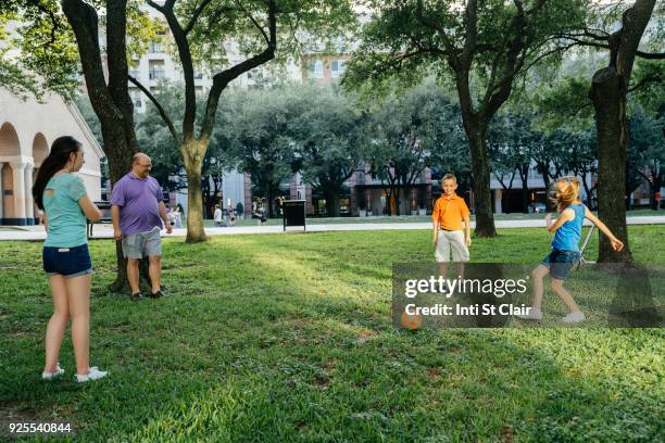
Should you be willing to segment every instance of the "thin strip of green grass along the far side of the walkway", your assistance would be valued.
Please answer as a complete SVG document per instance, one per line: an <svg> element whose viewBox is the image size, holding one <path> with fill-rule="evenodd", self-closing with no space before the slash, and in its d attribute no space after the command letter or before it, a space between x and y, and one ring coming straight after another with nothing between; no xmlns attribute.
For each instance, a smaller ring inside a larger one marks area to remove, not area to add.
<svg viewBox="0 0 665 443"><path fill-rule="evenodd" d="M635 210L628 211L628 217L643 217L665 215L665 211L651 211L651 210ZM475 220L475 215L472 215L472 220ZM544 214L494 214L497 220L534 220L543 219ZM390 216L371 216L371 217L308 217L308 224L311 225L338 225L338 224L354 224L354 223L372 223L372 224L384 224L384 223L429 223L431 217L429 215L400 215L396 217ZM185 220L183 220L185 224ZM252 219L237 219L236 226L256 226L259 220ZM269 218L266 221L268 226L281 226L283 221L280 217ZM213 220L205 220L206 227L214 227Z"/></svg>

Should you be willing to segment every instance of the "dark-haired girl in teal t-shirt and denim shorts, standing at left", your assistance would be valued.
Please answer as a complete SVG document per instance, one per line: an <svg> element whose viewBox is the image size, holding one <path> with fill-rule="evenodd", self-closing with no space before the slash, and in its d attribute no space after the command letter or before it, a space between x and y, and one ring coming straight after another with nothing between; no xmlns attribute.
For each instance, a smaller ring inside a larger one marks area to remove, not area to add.
<svg viewBox="0 0 665 443"><path fill-rule="evenodd" d="M41 378L51 380L64 374L58 363L62 339L72 319L72 344L76 359L76 381L86 382L108 372L89 366L90 356L90 281L92 263L88 252L86 217L101 218L90 201L80 177L84 151L73 137L60 137L41 163L33 197L43 211L47 240L43 243L43 270L49 276L53 315L46 332L46 365Z"/></svg>

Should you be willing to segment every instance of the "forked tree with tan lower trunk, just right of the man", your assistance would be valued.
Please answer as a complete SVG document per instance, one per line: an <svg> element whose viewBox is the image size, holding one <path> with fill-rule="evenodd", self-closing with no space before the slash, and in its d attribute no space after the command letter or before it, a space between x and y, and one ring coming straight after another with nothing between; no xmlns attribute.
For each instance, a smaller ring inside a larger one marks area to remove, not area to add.
<svg viewBox="0 0 665 443"><path fill-rule="evenodd" d="M147 0L159 11L168 28L177 52L185 81L185 103L180 130L172 117L161 113L178 143L187 170L188 217L187 241L205 239L201 199L201 170L215 127L215 116L222 92L240 75L254 69L277 55L278 40L292 49L298 31L316 31L334 37L336 29L352 22L353 14L346 0ZM224 43L238 45L246 58L231 62ZM226 62L226 63L223 63ZM212 87L205 97L202 115L197 118L195 68L210 69ZM162 109L156 98L136 78L129 80Z"/></svg>

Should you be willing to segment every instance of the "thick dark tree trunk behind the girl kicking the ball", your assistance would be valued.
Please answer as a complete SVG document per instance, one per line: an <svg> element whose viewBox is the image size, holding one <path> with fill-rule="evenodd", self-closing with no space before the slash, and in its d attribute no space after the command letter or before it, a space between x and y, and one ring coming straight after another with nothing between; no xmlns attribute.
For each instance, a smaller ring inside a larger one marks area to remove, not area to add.
<svg viewBox="0 0 665 443"><path fill-rule="evenodd" d="M598 134L598 213L610 230L624 242L615 252L605 236L600 237L599 262L630 262L626 227L626 96L623 79L612 66L593 75L590 98L595 109Z"/></svg>

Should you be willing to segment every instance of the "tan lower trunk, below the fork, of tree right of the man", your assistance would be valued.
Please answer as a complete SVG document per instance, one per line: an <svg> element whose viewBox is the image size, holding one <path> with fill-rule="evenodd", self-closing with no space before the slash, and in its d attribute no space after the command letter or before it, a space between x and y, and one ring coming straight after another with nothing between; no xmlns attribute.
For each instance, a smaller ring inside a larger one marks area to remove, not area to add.
<svg viewBox="0 0 665 443"><path fill-rule="evenodd" d="M203 194L201 192L203 155L200 151L201 147L191 144L180 147L185 159L185 170L187 170L187 243L206 240L203 229ZM205 152L204 149L203 152Z"/></svg>

